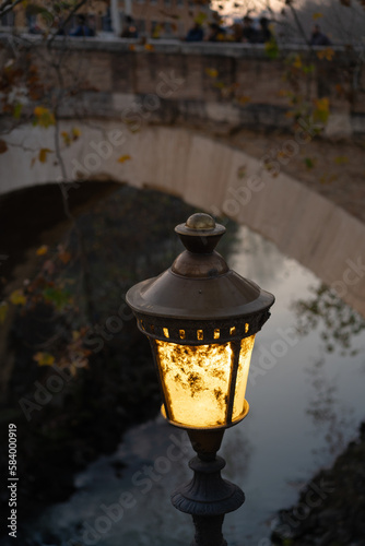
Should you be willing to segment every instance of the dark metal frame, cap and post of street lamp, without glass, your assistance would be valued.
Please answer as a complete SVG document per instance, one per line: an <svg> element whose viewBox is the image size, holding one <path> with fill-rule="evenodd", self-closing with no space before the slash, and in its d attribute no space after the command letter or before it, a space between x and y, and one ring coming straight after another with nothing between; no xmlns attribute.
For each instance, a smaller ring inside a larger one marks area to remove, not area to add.
<svg viewBox="0 0 365 546"><path fill-rule="evenodd" d="M259 332L270 317L274 297L257 284L229 270L214 248L225 227L207 214L193 214L176 226L186 250L172 268L157 277L134 285L127 294L140 331L149 337L163 396L164 416L185 428L197 452L189 466L191 482L172 496L178 510L193 518L196 536L191 546L226 546L222 524L227 512L245 501L242 489L223 479L225 466L216 456L226 428L245 418L232 418L242 340ZM226 419L222 426L190 427L173 419L162 377L156 342L176 345L212 345L231 342L233 349Z"/></svg>

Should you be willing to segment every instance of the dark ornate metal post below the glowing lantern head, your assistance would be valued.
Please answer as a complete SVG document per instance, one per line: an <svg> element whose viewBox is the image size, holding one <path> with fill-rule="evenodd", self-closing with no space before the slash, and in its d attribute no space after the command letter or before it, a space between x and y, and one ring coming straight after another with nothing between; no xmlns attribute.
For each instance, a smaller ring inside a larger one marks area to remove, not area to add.
<svg viewBox="0 0 365 546"><path fill-rule="evenodd" d="M216 456L216 451L224 430L188 430L188 434L198 452L189 462L193 477L173 494L172 502L177 510L192 515L196 536L191 546L226 546L222 535L224 515L237 510L245 502L245 495L221 476L225 461Z"/></svg>

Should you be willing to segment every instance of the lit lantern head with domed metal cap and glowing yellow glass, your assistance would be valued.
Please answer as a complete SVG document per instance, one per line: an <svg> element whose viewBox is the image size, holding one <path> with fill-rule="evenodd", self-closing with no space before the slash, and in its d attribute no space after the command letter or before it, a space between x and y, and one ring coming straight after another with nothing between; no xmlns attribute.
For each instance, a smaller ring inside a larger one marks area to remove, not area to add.
<svg viewBox="0 0 365 546"><path fill-rule="evenodd" d="M186 250L127 301L152 345L165 417L186 429L225 429L248 413L255 334L274 297L215 252L225 227L211 216L193 214L175 230Z"/></svg>

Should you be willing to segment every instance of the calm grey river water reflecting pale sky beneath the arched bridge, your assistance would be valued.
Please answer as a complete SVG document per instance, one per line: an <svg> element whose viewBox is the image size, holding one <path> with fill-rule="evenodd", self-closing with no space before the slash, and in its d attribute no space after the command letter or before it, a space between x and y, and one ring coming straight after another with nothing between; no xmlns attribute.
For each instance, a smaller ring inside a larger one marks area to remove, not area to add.
<svg viewBox="0 0 365 546"><path fill-rule="evenodd" d="M341 343L343 317L351 310L341 302L327 309L333 319L326 327L318 312L327 301L320 281L246 227L226 258L276 297L256 339L246 393L250 413L225 432L221 449L224 477L246 494L245 505L226 515L225 538L229 546L267 546L278 510L297 500L304 484L333 462L364 419L365 332L350 333L350 342ZM298 313L298 299L316 302ZM351 323L360 320L354 317ZM306 335L297 331L303 321L311 321ZM328 329L330 340L323 339ZM192 450L184 435L161 416L129 429L113 455L75 477L78 490L67 502L32 522L30 544L190 544L191 519L169 501L191 475Z"/></svg>

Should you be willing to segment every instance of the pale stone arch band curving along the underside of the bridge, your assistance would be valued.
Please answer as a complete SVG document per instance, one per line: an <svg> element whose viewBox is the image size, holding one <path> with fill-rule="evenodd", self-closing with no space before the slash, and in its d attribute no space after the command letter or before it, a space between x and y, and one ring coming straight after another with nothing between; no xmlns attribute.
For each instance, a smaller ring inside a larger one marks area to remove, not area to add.
<svg viewBox="0 0 365 546"><path fill-rule="evenodd" d="M108 120L70 119L62 130L75 124L83 138L62 153L74 181L68 191L78 191L86 179L113 180L158 189L226 215L272 240L365 314L365 226L333 202L284 173L272 177L262 161L192 129L149 126L131 133ZM39 149L54 150L54 128L21 128L11 139L7 162L0 164L1 193L61 183L52 152L45 163L33 161Z"/></svg>

